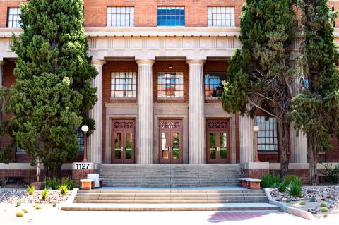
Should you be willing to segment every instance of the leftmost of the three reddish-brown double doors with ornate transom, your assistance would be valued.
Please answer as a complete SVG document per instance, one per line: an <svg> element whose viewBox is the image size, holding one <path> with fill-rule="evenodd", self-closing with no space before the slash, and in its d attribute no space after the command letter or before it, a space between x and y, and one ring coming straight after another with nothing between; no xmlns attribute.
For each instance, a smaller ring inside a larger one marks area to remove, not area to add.
<svg viewBox="0 0 339 225"><path fill-rule="evenodd" d="M134 127L135 121L133 119L112 120L112 163L134 163Z"/></svg>

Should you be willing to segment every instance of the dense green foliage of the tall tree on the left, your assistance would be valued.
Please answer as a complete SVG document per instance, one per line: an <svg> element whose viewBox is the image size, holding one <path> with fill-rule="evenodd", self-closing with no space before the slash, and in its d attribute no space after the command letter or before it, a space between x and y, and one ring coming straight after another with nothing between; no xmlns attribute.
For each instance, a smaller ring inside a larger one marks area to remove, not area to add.
<svg viewBox="0 0 339 225"><path fill-rule="evenodd" d="M77 156L75 128L86 121L94 129L87 112L97 101L91 87L97 71L87 56L83 1L30 0L20 9L23 33L13 36L12 47L16 83L2 90L5 114L13 115L4 130L32 166L39 160L47 171L59 169Z"/></svg>

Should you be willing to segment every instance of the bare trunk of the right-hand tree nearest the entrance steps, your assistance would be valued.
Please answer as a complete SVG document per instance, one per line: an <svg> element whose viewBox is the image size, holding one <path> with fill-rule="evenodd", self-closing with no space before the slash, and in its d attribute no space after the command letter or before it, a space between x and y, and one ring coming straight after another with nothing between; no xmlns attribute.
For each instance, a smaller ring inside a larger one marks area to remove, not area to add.
<svg viewBox="0 0 339 225"><path fill-rule="evenodd" d="M287 120L287 119L285 119ZM280 162L280 178L288 173L288 151L290 148L290 123L288 121L278 121L278 146Z"/></svg>

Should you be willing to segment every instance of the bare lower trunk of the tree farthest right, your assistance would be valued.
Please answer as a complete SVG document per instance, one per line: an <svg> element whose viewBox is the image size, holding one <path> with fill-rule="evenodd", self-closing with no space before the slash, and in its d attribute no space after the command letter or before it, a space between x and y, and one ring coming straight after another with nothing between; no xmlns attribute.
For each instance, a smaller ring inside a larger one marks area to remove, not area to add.
<svg viewBox="0 0 339 225"><path fill-rule="evenodd" d="M307 138L308 154L307 158L309 161L309 184L314 186L318 184L318 174L316 173L316 164L318 162L318 151L315 145L314 138Z"/></svg>

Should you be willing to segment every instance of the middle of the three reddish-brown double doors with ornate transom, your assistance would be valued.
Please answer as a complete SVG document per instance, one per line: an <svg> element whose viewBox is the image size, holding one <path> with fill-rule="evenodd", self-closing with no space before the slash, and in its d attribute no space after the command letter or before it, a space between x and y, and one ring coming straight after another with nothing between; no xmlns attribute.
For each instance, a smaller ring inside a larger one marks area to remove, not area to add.
<svg viewBox="0 0 339 225"><path fill-rule="evenodd" d="M182 120L159 120L159 157L163 164L182 163Z"/></svg>

